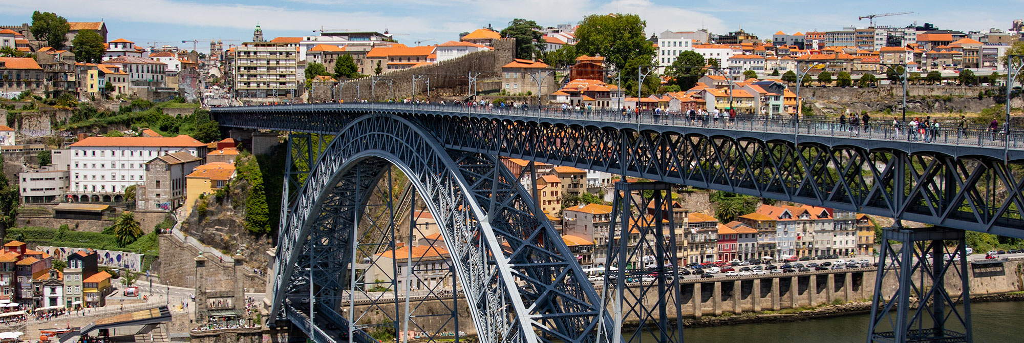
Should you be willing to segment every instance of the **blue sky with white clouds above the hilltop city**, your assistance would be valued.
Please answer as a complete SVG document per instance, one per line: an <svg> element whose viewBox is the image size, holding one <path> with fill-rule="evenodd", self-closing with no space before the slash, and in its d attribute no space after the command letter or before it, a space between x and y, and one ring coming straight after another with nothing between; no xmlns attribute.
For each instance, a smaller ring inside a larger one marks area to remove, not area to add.
<svg viewBox="0 0 1024 343"><path fill-rule="evenodd" d="M399 42L434 39L436 44L458 38L460 32L487 24L503 28L512 18L534 19L542 26L575 23L591 13L637 13L647 22L648 35L664 30L692 31L701 27L726 33L740 27L770 37L776 31L840 30L867 26L857 16L913 11L882 17L879 25L932 23L942 29L987 31L1009 29L1024 0L963 1L660 1L660 0L36 0L8 1L0 25L30 23L33 10L52 11L71 22L106 22L111 40L125 38L191 48L191 39L252 39L258 23L267 39L314 35L313 30L390 30ZM236 43L236 42L225 42ZM205 51L209 44L199 44Z"/></svg>

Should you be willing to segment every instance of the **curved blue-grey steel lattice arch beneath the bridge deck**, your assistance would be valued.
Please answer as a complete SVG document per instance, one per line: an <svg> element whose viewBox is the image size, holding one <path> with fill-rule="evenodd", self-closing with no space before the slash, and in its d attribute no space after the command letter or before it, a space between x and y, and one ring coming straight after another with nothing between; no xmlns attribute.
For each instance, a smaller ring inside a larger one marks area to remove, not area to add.
<svg viewBox="0 0 1024 343"><path fill-rule="evenodd" d="M367 254L358 249L364 237L355 233L362 227L356 214L381 168L394 164L441 228L482 341L594 340L601 305L596 292L496 157L445 151L432 134L396 116L365 116L336 133L289 204L279 235L272 316L282 310L284 291L302 285L293 281L303 271L312 280L305 283L310 294L323 301L339 299L345 286L357 284L354 273L348 283L342 280L345 264ZM335 303L310 307L338 317ZM349 311L348 321L353 319Z"/></svg>

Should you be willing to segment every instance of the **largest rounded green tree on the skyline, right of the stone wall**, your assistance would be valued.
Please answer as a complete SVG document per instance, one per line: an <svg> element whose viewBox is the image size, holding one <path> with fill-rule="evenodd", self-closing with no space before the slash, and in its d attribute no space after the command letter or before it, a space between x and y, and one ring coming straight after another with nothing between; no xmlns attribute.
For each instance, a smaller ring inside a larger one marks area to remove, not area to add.
<svg viewBox="0 0 1024 343"><path fill-rule="evenodd" d="M650 65L654 46L647 41L647 23L636 14L591 14L577 28L577 50L588 56L601 55L616 70L636 73L635 66ZM633 63L632 70L627 65Z"/></svg>

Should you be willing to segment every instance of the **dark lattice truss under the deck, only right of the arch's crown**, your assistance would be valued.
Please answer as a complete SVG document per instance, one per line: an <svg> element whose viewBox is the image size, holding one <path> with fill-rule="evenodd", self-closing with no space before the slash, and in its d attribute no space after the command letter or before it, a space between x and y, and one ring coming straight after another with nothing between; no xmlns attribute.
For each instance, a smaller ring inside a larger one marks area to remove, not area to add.
<svg viewBox="0 0 1024 343"><path fill-rule="evenodd" d="M423 121L449 148L1024 238L1021 160L673 131Z"/></svg>

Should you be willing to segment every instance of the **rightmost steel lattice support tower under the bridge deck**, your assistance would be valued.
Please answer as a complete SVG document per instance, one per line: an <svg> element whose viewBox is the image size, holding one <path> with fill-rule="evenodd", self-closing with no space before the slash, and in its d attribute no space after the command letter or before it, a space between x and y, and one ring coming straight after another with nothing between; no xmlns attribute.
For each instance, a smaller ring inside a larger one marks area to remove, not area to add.
<svg viewBox="0 0 1024 343"><path fill-rule="evenodd" d="M947 243L954 248L947 248ZM884 229L868 342L972 342L967 258L952 258L966 257L963 230L903 229L898 220L896 226ZM961 281L958 299L946 291L950 270ZM883 281L890 274L899 281L898 288L884 294ZM911 298L918 299L916 308L910 308ZM963 310L954 306L957 301L964 302Z"/></svg>

